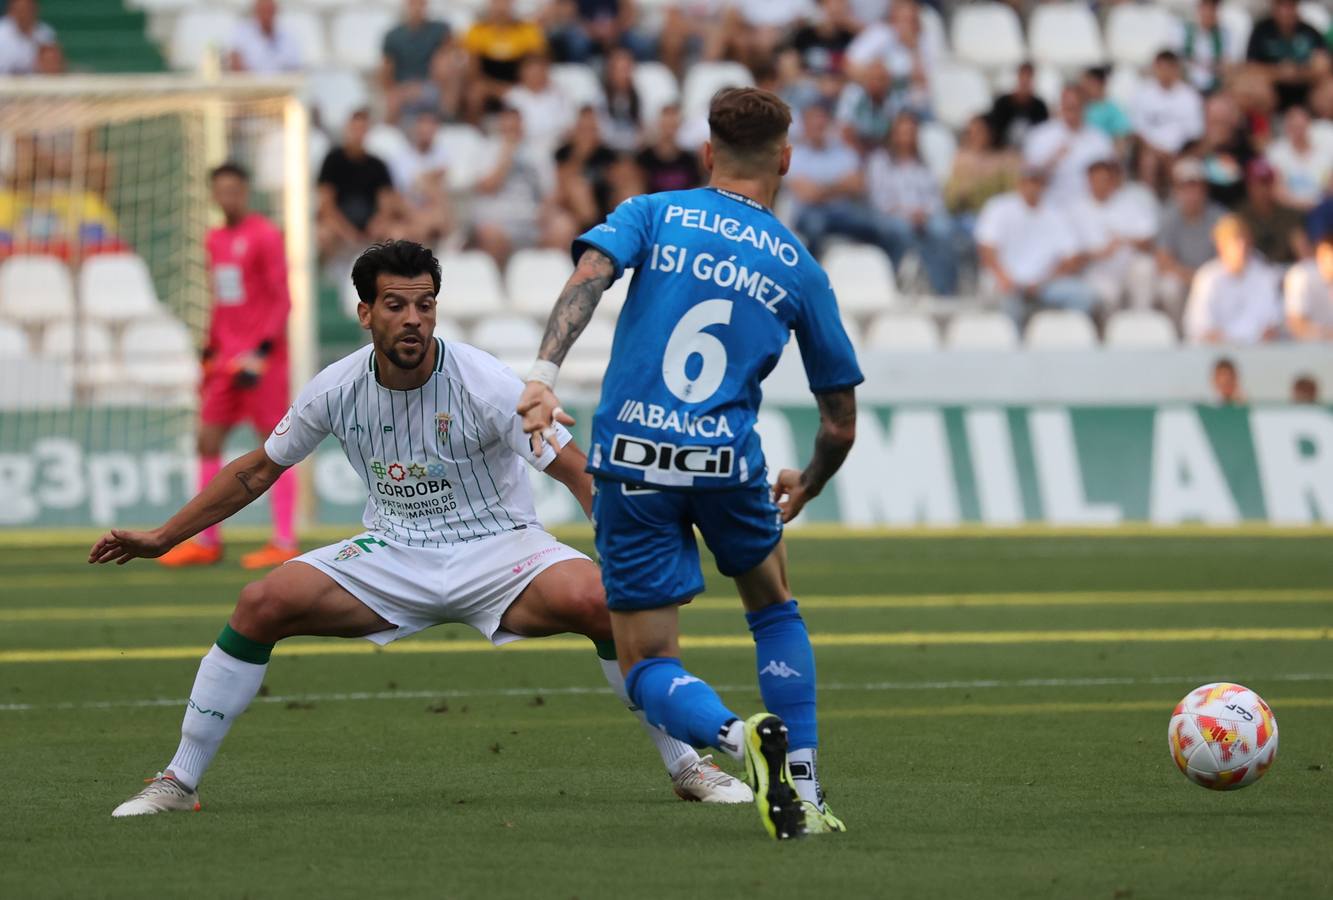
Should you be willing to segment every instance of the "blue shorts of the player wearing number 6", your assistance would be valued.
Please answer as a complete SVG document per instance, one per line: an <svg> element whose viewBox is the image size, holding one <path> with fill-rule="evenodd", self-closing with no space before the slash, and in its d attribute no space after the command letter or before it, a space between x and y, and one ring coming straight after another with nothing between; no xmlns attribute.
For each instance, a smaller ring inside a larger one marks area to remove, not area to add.
<svg viewBox="0 0 1333 900"><path fill-rule="evenodd" d="M768 559L782 519L766 480L730 491L656 491L597 479L592 520L612 609L657 609L704 591L694 527L728 577Z"/></svg>

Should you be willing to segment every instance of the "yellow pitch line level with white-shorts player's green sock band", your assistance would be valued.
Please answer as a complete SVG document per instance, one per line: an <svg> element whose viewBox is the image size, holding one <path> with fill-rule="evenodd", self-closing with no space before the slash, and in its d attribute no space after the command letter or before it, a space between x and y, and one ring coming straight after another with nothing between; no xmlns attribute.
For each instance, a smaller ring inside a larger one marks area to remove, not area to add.
<svg viewBox="0 0 1333 900"><path fill-rule="evenodd" d="M1321 641L1333 640L1333 628L1152 628L1097 631L944 631L869 632L816 635L816 647L921 647L966 644L1102 644L1193 641ZM741 649L753 645L748 636L686 636L686 649ZM547 637L513 644L517 652L588 649L583 637ZM491 644L479 640L413 640L379 647L368 641L321 641L284 645L284 656L365 656L371 653L479 653ZM115 660L184 660L204 652L201 647L83 647L61 649L0 651L0 663L105 663Z"/></svg>

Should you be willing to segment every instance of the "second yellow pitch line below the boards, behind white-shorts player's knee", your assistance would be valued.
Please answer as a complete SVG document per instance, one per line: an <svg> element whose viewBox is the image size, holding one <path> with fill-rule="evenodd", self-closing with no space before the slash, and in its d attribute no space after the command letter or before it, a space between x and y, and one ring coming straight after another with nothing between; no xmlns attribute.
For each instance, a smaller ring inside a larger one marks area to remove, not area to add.
<svg viewBox="0 0 1333 900"><path fill-rule="evenodd" d="M1052 593L853 593L809 595L804 609L956 609L973 607L1132 607L1202 604L1333 603L1333 591L1086 591ZM737 612L736 600L696 600L689 609ZM225 616L232 604L136 604L107 607L29 607L0 609L0 623L119 621Z"/></svg>

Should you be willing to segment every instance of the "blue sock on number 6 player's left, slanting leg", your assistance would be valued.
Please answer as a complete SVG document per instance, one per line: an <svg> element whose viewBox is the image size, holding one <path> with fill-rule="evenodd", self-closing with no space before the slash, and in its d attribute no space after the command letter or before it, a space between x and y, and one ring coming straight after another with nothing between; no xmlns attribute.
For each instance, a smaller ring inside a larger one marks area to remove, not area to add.
<svg viewBox="0 0 1333 900"><path fill-rule="evenodd" d="M694 747L717 747L717 737L734 712L701 679L672 656L651 656L625 676L625 689L648 721Z"/></svg>

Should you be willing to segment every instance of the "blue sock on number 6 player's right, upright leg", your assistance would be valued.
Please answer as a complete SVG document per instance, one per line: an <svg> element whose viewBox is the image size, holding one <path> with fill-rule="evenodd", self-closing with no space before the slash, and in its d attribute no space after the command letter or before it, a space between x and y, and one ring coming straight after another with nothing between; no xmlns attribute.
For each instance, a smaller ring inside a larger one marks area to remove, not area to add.
<svg viewBox="0 0 1333 900"><path fill-rule="evenodd" d="M818 724L814 717L814 651L805 620L788 600L758 612L746 612L754 635L754 660L758 665L758 691L764 708L786 723L792 751L818 747Z"/></svg>

